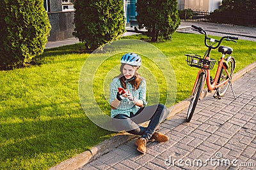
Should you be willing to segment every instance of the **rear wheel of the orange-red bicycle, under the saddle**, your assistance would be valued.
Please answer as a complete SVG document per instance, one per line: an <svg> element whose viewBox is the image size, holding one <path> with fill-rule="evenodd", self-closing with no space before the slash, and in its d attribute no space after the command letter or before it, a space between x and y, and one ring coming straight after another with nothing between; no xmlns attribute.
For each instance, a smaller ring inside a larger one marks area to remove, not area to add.
<svg viewBox="0 0 256 170"><path fill-rule="evenodd" d="M231 78L233 76L234 69L235 69L235 60L233 57L230 57L227 59L227 66L228 66L227 69L224 69L222 67L220 71L219 83L229 79L227 83L225 83L224 85L218 88L217 95L220 97L226 94L228 87L231 83ZM230 76L228 76L227 73L230 74Z"/></svg>

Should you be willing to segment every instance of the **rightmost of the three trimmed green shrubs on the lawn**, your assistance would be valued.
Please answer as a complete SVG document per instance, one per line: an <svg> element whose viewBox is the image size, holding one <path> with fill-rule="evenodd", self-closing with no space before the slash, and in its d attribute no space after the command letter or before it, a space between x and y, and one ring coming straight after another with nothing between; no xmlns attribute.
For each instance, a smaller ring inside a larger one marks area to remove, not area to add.
<svg viewBox="0 0 256 170"><path fill-rule="evenodd" d="M177 0L140 0L137 2L139 28L146 27L151 41L170 39L180 24Z"/></svg>

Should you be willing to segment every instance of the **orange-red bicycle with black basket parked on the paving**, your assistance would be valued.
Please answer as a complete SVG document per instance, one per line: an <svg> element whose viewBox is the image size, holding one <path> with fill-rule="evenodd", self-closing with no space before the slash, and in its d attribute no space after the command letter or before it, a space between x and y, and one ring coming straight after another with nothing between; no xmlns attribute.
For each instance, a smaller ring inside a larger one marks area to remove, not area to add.
<svg viewBox="0 0 256 170"><path fill-rule="evenodd" d="M234 39L238 39L237 37L232 36L223 36L220 40L209 38L207 36L207 32L202 29L202 27L197 27L196 25L191 25L191 27L194 31L198 31L200 32L200 34L204 34L204 43L208 49L206 50L204 57L195 54L185 54L187 56L186 61L189 66L200 68L200 71L198 71L196 77L195 85L192 90L186 122L190 122L193 116L196 104L198 103L198 99L200 99L202 90L204 89L205 80L208 91L216 90L216 92L214 93L214 97L218 99L225 95L229 86L232 89L231 80L232 74L234 73L236 60L230 55L233 52L232 48L228 46L220 46L220 44L223 40L234 41ZM216 74L214 78L212 78L210 76L210 70L213 68L216 60L210 59L210 53L212 49L216 48L218 48L218 52L221 52L222 55L220 57L220 60L218 61L218 69L216 71ZM230 56L225 59L226 54ZM233 89L232 92L234 94ZM235 94L234 97L236 99Z"/></svg>

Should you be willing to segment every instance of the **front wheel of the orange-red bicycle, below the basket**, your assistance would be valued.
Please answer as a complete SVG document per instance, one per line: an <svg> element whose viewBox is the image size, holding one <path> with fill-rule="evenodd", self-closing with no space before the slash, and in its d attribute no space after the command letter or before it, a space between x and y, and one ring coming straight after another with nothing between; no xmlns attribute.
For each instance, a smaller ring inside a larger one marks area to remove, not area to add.
<svg viewBox="0 0 256 170"><path fill-rule="evenodd" d="M195 90L191 96L191 101L189 104L189 108L188 108L188 113L187 113L187 118L186 118L186 122L190 122L193 113L195 111L196 108L196 104L198 102L198 99L200 97L203 85L204 85L204 80L205 80L205 74L204 73L200 73L198 80L196 82L196 87Z"/></svg>

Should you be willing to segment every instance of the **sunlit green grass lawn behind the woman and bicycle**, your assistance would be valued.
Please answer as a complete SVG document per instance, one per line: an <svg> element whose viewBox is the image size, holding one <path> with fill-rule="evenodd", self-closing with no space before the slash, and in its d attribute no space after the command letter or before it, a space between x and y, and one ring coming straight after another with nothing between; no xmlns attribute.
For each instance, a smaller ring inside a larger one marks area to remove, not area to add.
<svg viewBox="0 0 256 170"><path fill-rule="evenodd" d="M175 103L186 99L198 69L187 66L184 54L204 55L204 36L175 32L171 41L152 45L159 48L172 64L177 81ZM236 71L255 62L255 42L225 41L223 45L234 49ZM115 134L93 124L81 107L79 75L84 61L90 56L78 53L81 48L83 45L79 43L45 50L36 58L40 63L38 66L0 72L0 169L49 169ZM109 64L107 60L104 66L99 67L93 80L95 100L105 113L110 110L108 96L96 89L102 90L102 83L111 81L104 77L113 78L107 72L113 69L112 63L118 63L120 57L116 54L109 58ZM219 57L220 53L212 51L213 59ZM166 82L161 78L161 70L146 57L143 59L145 68L141 68L142 76L146 80L152 77L156 78L154 81L161 82L158 83L159 88L148 89L148 93L149 90L160 89L160 102L166 101ZM146 74L147 70L150 73ZM100 76L102 74L104 76ZM88 104L86 107L92 106Z"/></svg>

